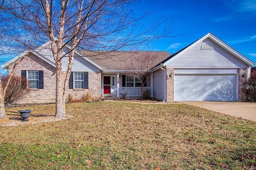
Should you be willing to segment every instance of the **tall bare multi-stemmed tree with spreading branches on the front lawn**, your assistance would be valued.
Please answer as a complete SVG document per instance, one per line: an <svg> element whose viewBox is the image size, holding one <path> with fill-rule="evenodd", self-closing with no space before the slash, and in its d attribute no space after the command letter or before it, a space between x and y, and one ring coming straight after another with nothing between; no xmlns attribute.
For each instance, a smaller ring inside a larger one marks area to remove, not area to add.
<svg viewBox="0 0 256 170"><path fill-rule="evenodd" d="M50 40L48 48L56 64L55 116L65 117L68 80L76 50L124 50L172 33L169 27L159 29L166 20L150 25L140 23L150 12L138 16L133 4L128 0L6 0L0 5L5 35L0 39L4 39L5 49L17 46L30 50ZM144 28L138 29L139 25ZM69 63L63 78L64 57Z"/></svg>

